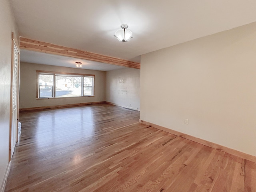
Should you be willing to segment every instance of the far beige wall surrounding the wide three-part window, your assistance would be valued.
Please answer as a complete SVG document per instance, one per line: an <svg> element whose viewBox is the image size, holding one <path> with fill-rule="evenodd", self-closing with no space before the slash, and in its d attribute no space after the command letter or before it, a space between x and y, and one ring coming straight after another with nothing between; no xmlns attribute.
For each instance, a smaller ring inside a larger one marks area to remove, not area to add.
<svg viewBox="0 0 256 192"><path fill-rule="evenodd" d="M36 70L94 74L94 95L92 97L36 99ZM55 106L76 103L105 101L106 72L20 62L20 109L41 106Z"/></svg>

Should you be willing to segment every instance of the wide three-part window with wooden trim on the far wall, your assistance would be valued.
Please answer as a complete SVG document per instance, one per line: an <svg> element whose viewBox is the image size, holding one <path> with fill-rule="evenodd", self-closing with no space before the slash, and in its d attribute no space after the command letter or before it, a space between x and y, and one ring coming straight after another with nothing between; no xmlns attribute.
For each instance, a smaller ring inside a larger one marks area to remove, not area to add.
<svg viewBox="0 0 256 192"><path fill-rule="evenodd" d="M94 75L36 72L38 98L94 96Z"/></svg>

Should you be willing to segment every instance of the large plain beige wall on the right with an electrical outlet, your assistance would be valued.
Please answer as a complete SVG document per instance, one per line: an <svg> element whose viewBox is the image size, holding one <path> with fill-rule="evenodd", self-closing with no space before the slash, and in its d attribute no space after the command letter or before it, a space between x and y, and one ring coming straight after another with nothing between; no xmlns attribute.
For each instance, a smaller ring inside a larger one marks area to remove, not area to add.
<svg viewBox="0 0 256 192"><path fill-rule="evenodd" d="M256 156L256 23L142 55L140 83L141 120Z"/></svg>

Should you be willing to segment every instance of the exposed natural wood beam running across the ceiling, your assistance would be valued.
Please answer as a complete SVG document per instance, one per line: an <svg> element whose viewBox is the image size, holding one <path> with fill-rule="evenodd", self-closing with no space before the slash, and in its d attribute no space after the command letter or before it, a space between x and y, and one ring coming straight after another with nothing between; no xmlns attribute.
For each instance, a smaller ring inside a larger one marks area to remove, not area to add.
<svg viewBox="0 0 256 192"><path fill-rule="evenodd" d="M20 49L140 69L140 63L20 37Z"/></svg>

